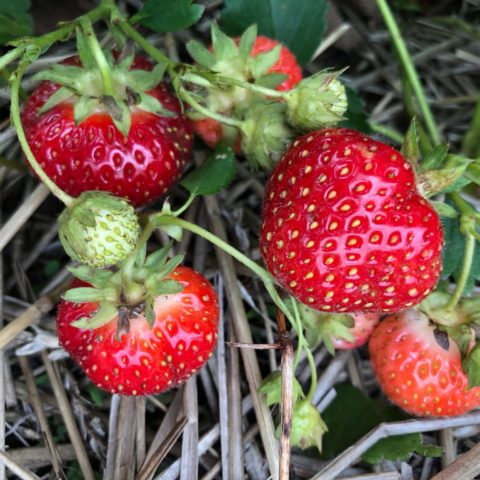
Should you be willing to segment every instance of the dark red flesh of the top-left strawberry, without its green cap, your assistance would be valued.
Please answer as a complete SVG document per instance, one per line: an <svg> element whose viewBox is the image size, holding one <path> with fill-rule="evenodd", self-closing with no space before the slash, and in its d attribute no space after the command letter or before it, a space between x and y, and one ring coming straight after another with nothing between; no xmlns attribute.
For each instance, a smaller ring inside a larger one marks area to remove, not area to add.
<svg viewBox="0 0 480 480"><path fill-rule="evenodd" d="M75 67L80 62L72 57L62 65ZM151 71L152 64L137 57L129 68ZM91 88L88 83L75 87L87 94ZM165 84L157 84L145 94L175 116L146 111L130 99L127 137L102 103L75 125L77 95L39 112L59 88L58 83L42 82L27 100L22 121L33 154L62 190L74 197L89 190L108 191L138 206L163 195L180 177L191 153L192 129Z"/></svg>

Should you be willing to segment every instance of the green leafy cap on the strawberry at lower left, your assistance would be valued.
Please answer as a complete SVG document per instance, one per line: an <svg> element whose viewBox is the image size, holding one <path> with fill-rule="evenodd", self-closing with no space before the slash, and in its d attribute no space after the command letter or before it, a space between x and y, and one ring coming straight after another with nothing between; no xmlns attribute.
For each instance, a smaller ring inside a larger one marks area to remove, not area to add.
<svg viewBox="0 0 480 480"><path fill-rule="evenodd" d="M183 290L183 286L171 278L171 273L182 262L183 256L169 258L170 249L171 244L168 244L147 257L144 245L132 252L132 256L119 267L108 270L87 265L70 267L75 277L91 287L72 288L63 295L64 300L99 304L94 315L81 318L72 325L98 328L117 318L121 312L126 314L127 320L130 316L143 313L149 324L153 325L155 299L159 295L173 295Z"/></svg>

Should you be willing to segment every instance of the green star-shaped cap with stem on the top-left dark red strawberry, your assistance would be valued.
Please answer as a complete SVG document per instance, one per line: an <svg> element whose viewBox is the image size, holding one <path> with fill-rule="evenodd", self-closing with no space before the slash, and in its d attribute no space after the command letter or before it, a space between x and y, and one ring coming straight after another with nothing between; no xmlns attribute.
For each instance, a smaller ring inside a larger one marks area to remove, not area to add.
<svg viewBox="0 0 480 480"><path fill-rule="evenodd" d="M111 51L100 48L89 28L77 30L77 51L81 66L56 64L35 75L36 80L61 85L40 113L71 102L77 125L95 112L107 112L124 136L130 130L132 108L161 116L175 115L147 93L161 82L166 64L157 64L151 71L131 70L135 55L119 55L115 60Z"/></svg>

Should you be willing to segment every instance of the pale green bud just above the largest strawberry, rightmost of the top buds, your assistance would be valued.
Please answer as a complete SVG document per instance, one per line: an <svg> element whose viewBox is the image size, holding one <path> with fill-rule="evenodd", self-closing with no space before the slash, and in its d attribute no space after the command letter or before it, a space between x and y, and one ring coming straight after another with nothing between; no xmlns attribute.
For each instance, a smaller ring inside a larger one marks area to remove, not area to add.
<svg viewBox="0 0 480 480"><path fill-rule="evenodd" d="M287 119L304 131L334 125L342 120L348 107L342 72L319 72L305 78L287 93Z"/></svg>

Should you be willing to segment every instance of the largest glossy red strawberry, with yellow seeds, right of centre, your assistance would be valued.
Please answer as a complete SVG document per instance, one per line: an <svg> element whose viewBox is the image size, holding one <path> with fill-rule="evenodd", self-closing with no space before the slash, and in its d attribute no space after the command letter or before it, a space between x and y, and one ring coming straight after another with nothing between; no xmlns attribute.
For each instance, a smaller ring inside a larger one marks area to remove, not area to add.
<svg viewBox="0 0 480 480"><path fill-rule="evenodd" d="M261 251L280 285L324 312L394 312L441 269L439 218L395 149L349 129L298 139L270 177Z"/></svg>

